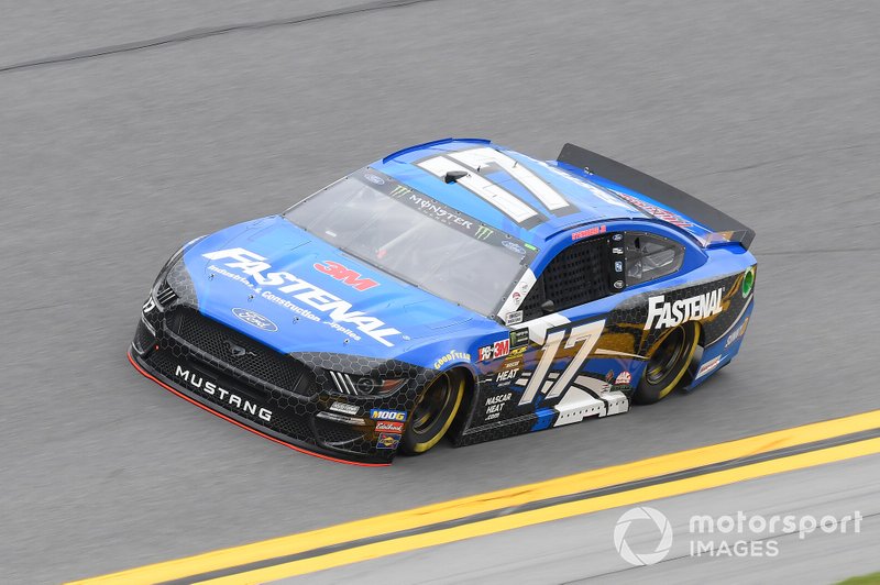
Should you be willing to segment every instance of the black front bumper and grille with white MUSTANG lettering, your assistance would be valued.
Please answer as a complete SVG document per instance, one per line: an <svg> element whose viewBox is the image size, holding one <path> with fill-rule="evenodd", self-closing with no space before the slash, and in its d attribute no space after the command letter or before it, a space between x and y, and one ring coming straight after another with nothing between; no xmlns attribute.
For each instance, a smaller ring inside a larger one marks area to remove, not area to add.
<svg viewBox="0 0 880 585"><path fill-rule="evenodd" d="M157 307L142 316L129 360L143 375L224 420L297 451L361 465L387 465L394 459L400 433L389 440L377 429L371 410L410 412L430 371L324 353L294 360L200 314L210 335L200 331L194 336L180 323L182 311L197 313L177 306ZM245 347L249 353L239 358L243 362L224 360L220 341ZM389 396L343 396L327 390L332 383L321 365L406 372L410 382ZM345 405L344 415L339 405Z"/></svg>

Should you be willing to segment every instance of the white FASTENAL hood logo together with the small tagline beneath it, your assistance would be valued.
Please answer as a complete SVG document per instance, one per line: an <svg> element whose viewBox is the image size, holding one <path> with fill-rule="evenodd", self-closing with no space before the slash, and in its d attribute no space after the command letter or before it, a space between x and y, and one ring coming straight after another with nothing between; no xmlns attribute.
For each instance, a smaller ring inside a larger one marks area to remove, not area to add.
<svg viewBox="0 0 880 585"><path fill-rule="evenodd" d="M363 311L352 311L351 302L342 300L336 295L331 295L330 292L323 290L322 288L318 288L307 280L302 280L301 278L298 278L288 272L268 272L272 271L272 265L265 262L266 258L264 256L254 254L253 252L244 250L243 247L219 250L217 252L202 254L202 256L215 261L232 261L227 262L223 265L227 268L233 268L241 274L251 276L261 287L274 287L278 292L284 294L285 296L289 296L296 300L305 302L314 309L317 309L323 313L328 313L330 321L324 321L326 323L348 334L349 336L354 336L355 340L360 340L361 338L353 334L353 332L339 323L352 323L355 325L358 331L373 338L377 342L388 347L393 347L394 343L388 341L386 338L402 334L397 329L386 327L385 322L376 317L364 314ZM257 289L257 287L254 287L254 285L248 278L244 278L240 274L230 272L213 264L208 266L208 269L233 280L240 282L254 289L255 292L260 290L260 296L264 299L275 302L276 305L280 305L282 307L301 314L307 319L316 321L321 320L320 317L316 316L310 310L302 309L287 298L275 295L271 290L262 290L262 288Z"/></svg>

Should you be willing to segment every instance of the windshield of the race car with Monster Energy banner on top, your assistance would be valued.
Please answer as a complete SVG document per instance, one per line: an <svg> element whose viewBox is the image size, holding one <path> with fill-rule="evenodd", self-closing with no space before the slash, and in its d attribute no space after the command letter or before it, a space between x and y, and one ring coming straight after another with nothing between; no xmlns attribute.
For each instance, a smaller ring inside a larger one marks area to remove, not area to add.
<svg viewBox="0 0 880 585"><path fill-rule="evenodd" d="M537 250L389 176L362 169L285 212L333 246L492 316Z"/></svg>

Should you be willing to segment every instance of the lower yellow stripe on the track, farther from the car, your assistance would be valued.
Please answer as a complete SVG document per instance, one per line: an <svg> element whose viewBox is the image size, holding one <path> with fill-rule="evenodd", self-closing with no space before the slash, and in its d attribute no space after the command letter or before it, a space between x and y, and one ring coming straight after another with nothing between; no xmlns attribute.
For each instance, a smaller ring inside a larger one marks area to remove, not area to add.
<svg viewBox="0 0 880 585"><path fill-rule="evenodd" d="M722 472L698 475L686 479L675 479L672 482L658 484L648 487L630 489L618 494L598 496L588 499L558 504L548 508L503 516L490 520L482 520L470 525L454 528L446 528L422 534L403 537L373 544L365 544L346 549L344 551L332 552L312 559L294 561L265 569L257 569L246 573L239 573L227 577L219 577L209 581L198 582L202 585L231 585L231 584L260 584L284 577L293 577L316 571L323 571L336 566L348 565L361 561L370 561L396 554L400 552L436 547L449 542L484 537L516 528L524 528L572 516L581 516L608 508L617 508L649 501L670 496L689 494L712 487L719 487L746 479L755 479L782 472L802 470L823 463L844 461L847 459L859 457L880 453L880 439L869 439L857 443L849 443L818 451L790 455L777 460L752 463L743 467L735 467Z"/></svg>

